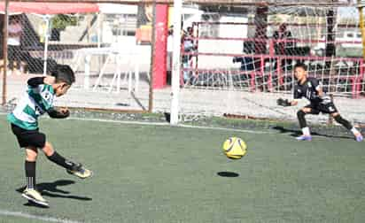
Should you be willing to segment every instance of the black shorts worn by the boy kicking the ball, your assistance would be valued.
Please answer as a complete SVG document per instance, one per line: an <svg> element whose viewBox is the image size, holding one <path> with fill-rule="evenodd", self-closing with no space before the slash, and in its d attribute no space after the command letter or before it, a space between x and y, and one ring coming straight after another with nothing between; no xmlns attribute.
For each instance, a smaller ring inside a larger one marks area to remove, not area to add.
<svg viewBox="0 0 365 223"><path fill-rule="evenodd" d="M42 149L46 142L46 137L38 129L27 130L12 124L12 133L17 136L21 148L36 147Z"/></svg>

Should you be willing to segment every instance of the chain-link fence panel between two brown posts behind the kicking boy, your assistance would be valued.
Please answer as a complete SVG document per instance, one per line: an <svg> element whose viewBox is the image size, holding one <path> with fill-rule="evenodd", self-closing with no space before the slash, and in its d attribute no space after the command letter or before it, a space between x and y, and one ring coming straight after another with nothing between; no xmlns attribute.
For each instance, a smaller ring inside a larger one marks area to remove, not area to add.
<svg viewBox="0 0 365 223"><path fill-rule="evenodd" d="M73 68L76 82L58 105L148 111L153 18L145 16L145 8L10 2L6 101L17 102L28 78L50 74L63 64ZM4 14L0 18L3 30Z"/></svg>

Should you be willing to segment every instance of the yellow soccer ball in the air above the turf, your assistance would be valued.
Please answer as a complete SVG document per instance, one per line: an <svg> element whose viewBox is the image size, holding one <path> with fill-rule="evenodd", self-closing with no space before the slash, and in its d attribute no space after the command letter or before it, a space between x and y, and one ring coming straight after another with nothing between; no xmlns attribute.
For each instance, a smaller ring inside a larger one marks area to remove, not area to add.
<svg viewBox="0 0 365 223"><path fill-rule="evenodd" d="M223 151L227 158L239 159L245 156L247 146L245 141L238 137L230 137L223 143Z"/></svg>

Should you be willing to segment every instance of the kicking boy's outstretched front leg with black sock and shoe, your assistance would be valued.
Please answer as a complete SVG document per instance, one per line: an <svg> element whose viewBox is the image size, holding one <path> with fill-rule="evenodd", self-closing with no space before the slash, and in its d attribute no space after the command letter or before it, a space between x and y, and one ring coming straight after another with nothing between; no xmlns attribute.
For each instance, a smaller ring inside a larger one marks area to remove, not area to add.
<svg viewBox="0 0 365 223"><path fill-rule="evenodd" d="M67 173L74 174L82 179L88 178L92 175L92 172L85 169L81 164L74 163L59 155L58 152L53 149L50 142L45 142L42 150L50 161L64 167Z"/></svg>

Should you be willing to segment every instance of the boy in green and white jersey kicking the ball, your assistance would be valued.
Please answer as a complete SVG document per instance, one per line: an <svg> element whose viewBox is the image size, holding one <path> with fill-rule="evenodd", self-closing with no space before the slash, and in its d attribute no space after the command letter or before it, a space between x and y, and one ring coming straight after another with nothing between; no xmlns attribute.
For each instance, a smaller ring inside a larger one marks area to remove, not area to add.
<svg viewBox="0 0 365 223"><path fill-rule="evenodd" d="M53 163L66 168L66 172L85 179L92 172L81 164L74 163L53 149L46 135L39 132L38 117L47 112L50 118L65 119L70 112L67 109L56 110L53 107L55 96L63 96L74 82L74 72L68 65L57 65L52 76L35 77L27 81L27 93L19 104L8 115L12 133L16 135L19 146L26 150L25 170L27 188L22 196L27 200L48 207L48 202L35 188L35 161L38 149L43 150L45 156Z"/></svg>

